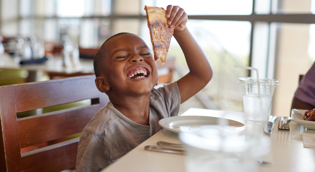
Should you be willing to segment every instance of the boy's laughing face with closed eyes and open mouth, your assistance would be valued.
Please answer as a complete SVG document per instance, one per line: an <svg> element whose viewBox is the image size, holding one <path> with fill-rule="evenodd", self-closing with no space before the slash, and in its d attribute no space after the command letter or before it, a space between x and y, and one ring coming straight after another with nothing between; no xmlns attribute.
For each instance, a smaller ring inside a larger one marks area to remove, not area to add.
<svg viewBox="0 0 315 172"><path fill-rule="evenodd" d="M122 34L104 46L104 75L113 95L141 95L157 84L157 65L150 49L138 36Z"/></svg>

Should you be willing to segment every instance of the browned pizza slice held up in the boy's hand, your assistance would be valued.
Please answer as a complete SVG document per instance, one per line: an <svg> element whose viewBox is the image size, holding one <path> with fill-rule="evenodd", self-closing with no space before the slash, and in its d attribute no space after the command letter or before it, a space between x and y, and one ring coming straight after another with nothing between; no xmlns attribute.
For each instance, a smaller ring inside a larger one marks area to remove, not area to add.
<svg viewBox="0 0 315 172"><path fill-rule="evenodd" d="M146 10L146 18L150 30L154 60L160 59L162 64L164 64L174 28L169 28L167 24L165 9L148 6L145 6L144 9Z"/></svg>

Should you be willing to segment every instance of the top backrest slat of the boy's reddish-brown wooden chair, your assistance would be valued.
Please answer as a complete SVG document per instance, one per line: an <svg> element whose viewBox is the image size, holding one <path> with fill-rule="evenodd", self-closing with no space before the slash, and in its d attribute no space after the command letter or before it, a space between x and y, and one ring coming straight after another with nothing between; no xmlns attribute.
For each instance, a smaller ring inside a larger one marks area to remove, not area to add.
<svg viewBox="0 0 315 172"><path fill-rule="evenodd" d="M18 84L14 87L16 112L97 98L99 91L90 78L91 76L73 77L71 80L65 78Z"/></svg>

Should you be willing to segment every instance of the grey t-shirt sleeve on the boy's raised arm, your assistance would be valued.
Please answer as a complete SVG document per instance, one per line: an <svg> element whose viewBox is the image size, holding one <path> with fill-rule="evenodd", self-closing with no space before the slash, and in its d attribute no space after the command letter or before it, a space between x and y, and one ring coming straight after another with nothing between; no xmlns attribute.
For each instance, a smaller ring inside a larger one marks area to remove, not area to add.
<svg viewBox="0 0 315 172"><path fill-rule="evenodd" d="M168 116L176 116L180 106L180 92L177 83L165 84L163 87L156 89L156 93L165 103Z"/></svg>

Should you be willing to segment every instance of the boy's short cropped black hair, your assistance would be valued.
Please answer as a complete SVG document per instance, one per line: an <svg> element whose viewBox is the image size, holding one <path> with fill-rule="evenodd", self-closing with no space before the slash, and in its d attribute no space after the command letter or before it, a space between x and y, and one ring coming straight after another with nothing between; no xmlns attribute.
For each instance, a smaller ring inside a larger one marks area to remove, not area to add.
<svg viewBox="0 0 315 172"><path fill-rule="evenodd" d="M117 33L116 35L113 35L111 37L109 37L103 44L102 46L100 46L100 49L97 51L95 57L94 57L94 61L93 61L93 66L94 66L94 73L96 77L99 77L101 75L101 73L103 72L103 60L105 57L105 50L104 50L104 46L105 43L110 40L113 37L116 37L118 35L122 35L122 34L130 34L130 35L135 35L132 33L128 33L128 32L121 32L121 33ZM138 37L138 35L135 35Z"/></svg>

